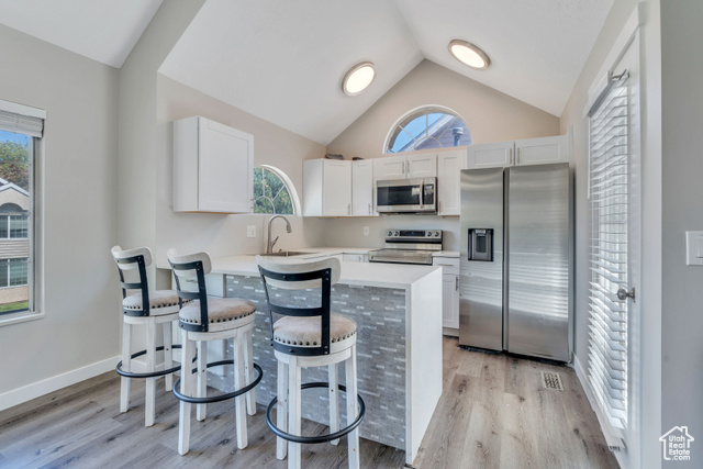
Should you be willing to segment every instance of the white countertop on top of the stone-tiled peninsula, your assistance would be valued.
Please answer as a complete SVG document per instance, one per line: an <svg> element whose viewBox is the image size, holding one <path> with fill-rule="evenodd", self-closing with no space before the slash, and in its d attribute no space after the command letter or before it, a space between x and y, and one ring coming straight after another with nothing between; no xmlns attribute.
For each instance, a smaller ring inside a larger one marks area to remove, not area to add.
<svg viewBox="0 0 703 469"><path fill-rule="evenodd" d="M332 249L332 252L327 253L326 249ZM287 261L313 259L320 257L323 250L324 255L327 256L342 253L333 248L300 250L310 250L311 254L289 257ZM343 252L350 254L346 249ZM400 266L394 264L343 261L339 283L406 289L417 280L424 278L427 273L440 268L442 267L433 266ZM212 259L212 272L235 276L256 276L259 273L256 266L256 256L253 255L215 257Z"/></svg>

